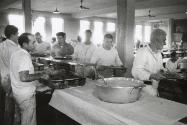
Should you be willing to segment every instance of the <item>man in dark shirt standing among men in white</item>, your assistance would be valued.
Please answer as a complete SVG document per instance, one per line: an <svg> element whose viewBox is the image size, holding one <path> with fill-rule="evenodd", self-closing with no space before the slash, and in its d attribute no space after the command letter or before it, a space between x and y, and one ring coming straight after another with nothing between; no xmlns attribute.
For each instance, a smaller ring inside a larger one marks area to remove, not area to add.
<svg viewBox="0 0 187 125"><path fill-rule="evenodd" d="M58 32L56 34L58 43L53 45L51 55L53 57L64 57L74 53L72 45L66 43L66 34L64 32Z"/></svg>

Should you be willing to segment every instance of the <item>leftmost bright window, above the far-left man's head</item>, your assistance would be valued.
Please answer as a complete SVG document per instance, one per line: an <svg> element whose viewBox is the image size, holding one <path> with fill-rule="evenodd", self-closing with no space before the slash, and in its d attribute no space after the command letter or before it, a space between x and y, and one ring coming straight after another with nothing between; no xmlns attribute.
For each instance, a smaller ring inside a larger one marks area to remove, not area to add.
<svg viewBox="0 0 187 125"><path fill-rule="evenodd" d="M14 25L18 28L19 35L25 32L24 18L22 15L10 14L8 15L8 21L10 25Z"/></svg>

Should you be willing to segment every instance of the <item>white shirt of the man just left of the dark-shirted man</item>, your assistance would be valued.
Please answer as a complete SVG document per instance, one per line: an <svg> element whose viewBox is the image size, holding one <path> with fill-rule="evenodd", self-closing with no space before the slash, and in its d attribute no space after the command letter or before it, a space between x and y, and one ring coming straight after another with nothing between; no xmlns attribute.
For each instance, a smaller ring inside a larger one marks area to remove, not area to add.
<svg viewBox="0 0 187 125"><path fill-rule="evenodd" d="M48 42L36 43L35 49L36 49L37 53L50 54L51 53L51 44Z"/></svg>

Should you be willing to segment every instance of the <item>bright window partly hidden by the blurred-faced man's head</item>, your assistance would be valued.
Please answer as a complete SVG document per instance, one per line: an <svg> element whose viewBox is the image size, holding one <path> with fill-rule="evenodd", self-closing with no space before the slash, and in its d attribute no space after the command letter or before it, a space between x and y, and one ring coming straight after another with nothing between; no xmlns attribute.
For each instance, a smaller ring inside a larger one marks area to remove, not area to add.
<svg viewBox="0 0 187 125"><path fill-rule="evenodd" d="M80 32L79 35L82 41L85 41L85 30L90 29L90 22L87 20L80 20Z"/></svg>

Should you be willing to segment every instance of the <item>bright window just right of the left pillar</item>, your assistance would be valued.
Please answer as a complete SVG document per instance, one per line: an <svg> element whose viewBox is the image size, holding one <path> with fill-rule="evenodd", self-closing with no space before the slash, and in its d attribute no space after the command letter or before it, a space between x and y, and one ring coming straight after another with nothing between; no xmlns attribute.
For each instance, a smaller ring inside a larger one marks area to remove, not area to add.
<svg viewBox="0 0 187 125"><path fill-rule="evenodd" d="M34 20L33 26L32 26L32 33L35 34L36 32L39 32L42 35L43 40L45 40L46 32L45 32L45 18L44 17L38 17Z"/></svg>

